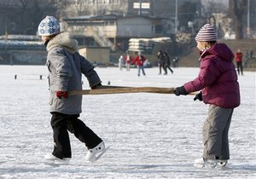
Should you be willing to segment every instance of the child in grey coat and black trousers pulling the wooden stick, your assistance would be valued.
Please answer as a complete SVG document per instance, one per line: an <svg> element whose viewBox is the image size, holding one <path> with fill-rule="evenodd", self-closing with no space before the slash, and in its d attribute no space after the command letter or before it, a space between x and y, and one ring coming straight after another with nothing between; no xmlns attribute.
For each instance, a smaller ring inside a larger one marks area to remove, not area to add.
<svg viewBox="0 0 256 179"><path fill-rule="evenodd" d="M101 87L101 79L94 67L79 55L78 42L69 33L61 32L60 23L46 16L38 26L38 34L47 49L49 70L49 105L53 130L53 152L44 157L52 163L68 163L72 157L69 134L73 133L88 149L85 159L95 162L104 153L105 144L82 120L82 95L68 95L68 90L82 90L82 74L91 89Z"/></svg>

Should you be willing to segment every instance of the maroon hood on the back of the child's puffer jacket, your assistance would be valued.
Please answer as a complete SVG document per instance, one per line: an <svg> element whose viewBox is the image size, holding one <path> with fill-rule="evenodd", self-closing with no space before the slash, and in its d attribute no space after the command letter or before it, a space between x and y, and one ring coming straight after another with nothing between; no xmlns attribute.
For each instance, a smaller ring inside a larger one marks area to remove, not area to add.
<svg viewBox="0 0 256 179"><path fill-rule="evenodd" d="M234 59L233 52L224 43L216 43L212 45L210 49L207 49L204 53L202 53L201 58L203 58L206 55L217 55L224 61L233 61Z"/></svg>

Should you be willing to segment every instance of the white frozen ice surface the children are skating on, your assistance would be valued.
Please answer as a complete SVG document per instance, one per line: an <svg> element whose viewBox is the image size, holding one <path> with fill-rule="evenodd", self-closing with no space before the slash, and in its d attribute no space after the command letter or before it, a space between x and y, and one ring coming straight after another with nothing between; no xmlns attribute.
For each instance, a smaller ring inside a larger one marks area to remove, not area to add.
<svg viewBox="0 0 256 179"><path fill-rule="evenodd" d="M96 72L102 84L177 87L199 69L175 68L164 76L148 68L147 78L138 78L137 69ZM53 148L47 75L46 66L0 66L0 178L256 178L256 72L239 77L241 106L233 114L230 163L224 169L193 166L202 154L207 105L193 101L194 95L146 93L84 95L80 119L110 149L91 165L84 160L84 144L70 135L70 164L44 165L44 155Z"/></svg>

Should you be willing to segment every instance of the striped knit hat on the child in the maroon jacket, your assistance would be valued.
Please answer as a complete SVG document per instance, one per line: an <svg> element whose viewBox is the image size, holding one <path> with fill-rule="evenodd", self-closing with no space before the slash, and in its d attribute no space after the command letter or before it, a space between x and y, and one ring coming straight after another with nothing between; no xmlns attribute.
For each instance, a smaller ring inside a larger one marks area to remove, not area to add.
<svg viewBox="0 0 256 179"><path fill-rule="evenodd" d="M202 26L200 31L195 36L195 40L199 42L210 42L217 40L217 34L210 24Z"/></svg>

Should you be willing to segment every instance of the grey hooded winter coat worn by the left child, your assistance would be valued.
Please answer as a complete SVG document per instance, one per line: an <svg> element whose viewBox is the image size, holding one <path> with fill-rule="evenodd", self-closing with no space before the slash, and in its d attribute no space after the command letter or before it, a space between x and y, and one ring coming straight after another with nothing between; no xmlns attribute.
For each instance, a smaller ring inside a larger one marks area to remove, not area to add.
<svg viewBox="0 0 256 179"><path fill-rule="evenodd" d="M82 90L82 73L90 87L101 84L94 67L78 52L78 42L62 32L52 38L46 47L49 70L50 113L79 114L82 112L82 95L57 98L57 90Z"/></svg>

